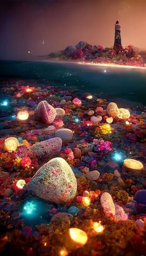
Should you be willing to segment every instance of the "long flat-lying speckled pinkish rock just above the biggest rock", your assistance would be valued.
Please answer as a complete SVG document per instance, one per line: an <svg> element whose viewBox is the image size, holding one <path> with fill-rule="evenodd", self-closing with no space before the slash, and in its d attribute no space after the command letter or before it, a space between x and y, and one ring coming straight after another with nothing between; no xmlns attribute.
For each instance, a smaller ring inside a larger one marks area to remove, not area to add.
<svg viewBox="0 0 146 256"><path fill-rule="evenodd" d="M61 138L51 138L46 141L41 141L35 143L30 147L30 156L48 156L49 154L54 154L61 151L62 139Z"/></svg>

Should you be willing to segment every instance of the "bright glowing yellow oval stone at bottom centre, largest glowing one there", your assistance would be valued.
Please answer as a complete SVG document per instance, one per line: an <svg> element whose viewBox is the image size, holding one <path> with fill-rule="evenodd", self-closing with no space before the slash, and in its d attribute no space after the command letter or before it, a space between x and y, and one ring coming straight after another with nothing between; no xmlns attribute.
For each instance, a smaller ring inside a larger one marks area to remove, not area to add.
<svg viewBox="0 0 146 256"><path fill-rule="evenodd" d="M85 245L88 240L86 232L82 231L82 229L77 229L76 227L71 227L69 229L69 236L72 241L80 246Z"/></svg>

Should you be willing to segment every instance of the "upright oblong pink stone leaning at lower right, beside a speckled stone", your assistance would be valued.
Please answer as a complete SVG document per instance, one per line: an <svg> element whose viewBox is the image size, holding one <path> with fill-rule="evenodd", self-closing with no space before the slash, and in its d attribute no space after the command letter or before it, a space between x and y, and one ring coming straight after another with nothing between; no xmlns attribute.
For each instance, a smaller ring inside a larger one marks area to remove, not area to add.
<svg viewBox="0 0 146 256"><path fill-rule="evenodd" d="M115 206L113 203L113 198L111 197L111 195L109 193L104 192L101 195L100 203L101 203L101 206L103 208L103 211L104 211L106 217L115 215Z"/></svg>

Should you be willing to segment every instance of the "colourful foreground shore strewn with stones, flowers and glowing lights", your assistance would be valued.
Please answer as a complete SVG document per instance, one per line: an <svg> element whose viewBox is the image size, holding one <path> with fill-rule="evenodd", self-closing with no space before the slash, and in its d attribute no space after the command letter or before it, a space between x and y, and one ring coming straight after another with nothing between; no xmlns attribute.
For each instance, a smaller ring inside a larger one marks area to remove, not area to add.
<svg viewBox="0 0 146 256"><path fill-rule="evenodd" d="M1 81L1 91L1 255L145 255L145 106L119 108L49 82ZM56 157L67 162L65 185L64 167L43 167ZM32 193L40 168L47 179L40 172Z"/></svg>

